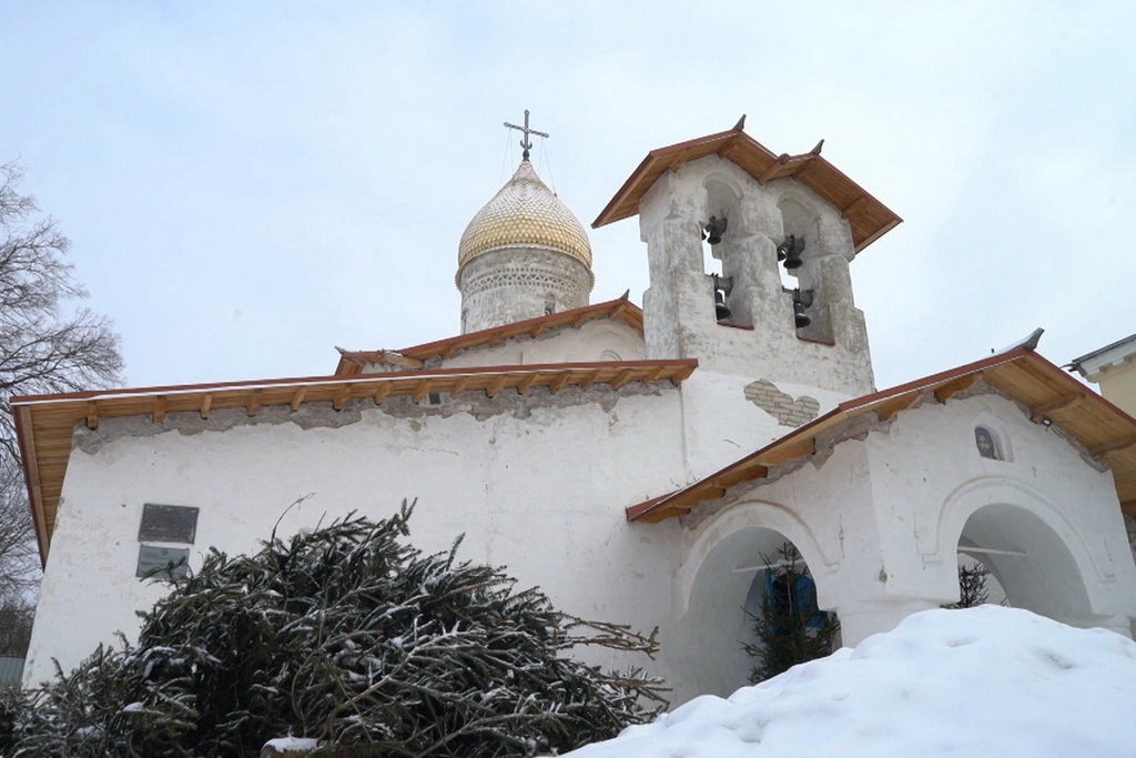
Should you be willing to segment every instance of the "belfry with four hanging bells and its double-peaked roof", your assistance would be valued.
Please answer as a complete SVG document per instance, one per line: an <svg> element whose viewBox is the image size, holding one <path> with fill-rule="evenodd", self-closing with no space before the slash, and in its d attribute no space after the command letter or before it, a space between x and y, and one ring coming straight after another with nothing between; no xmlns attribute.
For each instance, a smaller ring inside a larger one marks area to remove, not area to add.
<svg viewBox="0 0 1136 758"><path fill-rule="evenodd" d="M640 164L593 226L640 217L651 358L847 395L875 390L849 265L901 219L821 145L777 156L740 124Z"/></svg>

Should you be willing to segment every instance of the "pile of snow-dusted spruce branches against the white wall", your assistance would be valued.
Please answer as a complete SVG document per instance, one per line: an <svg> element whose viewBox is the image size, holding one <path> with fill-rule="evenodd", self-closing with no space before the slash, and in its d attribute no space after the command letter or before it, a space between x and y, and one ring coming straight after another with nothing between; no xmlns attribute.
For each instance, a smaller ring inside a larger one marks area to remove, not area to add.
<svg viewBox="0 0 1136 758"><path fill-rule="evenodd" d="M294 734L350 755L528 756L649 715L654 682L567 653L650 653L653 635L566 617L453 550L424 556L406 544L409 516L211 552L142 615L136 645L9 703L3 753L242 756Z"/></svg>

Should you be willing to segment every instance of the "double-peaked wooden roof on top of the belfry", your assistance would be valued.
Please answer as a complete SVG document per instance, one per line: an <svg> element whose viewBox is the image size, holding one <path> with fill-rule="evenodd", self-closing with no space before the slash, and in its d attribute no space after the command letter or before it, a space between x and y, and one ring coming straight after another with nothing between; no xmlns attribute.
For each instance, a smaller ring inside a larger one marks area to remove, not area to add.
<svg viewBox="0 0 1136 758"><path fill-rule="evenodd" d="M792 176L808 186L849 219L852 244L857 252L903 220L838 168L821 158L818 150L797 156L787 153L776 156L745 132L730 130L646 153L643 163L592 222L592 227L599 228L637 215L640 200L663 172L678 170L685 163L712 155L732 160L761 184Z"/></svg>

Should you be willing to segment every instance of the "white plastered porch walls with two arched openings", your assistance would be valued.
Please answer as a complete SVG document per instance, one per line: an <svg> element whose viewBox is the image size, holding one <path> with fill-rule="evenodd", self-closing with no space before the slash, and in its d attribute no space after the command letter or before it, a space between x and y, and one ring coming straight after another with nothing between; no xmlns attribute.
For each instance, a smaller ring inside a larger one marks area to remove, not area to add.
<svg viewBox="0 0 1136 758"><path fill-rule="evenodd" d="M979 423L997 430L1009 460L978 455ZM808 564L819 605L837 611L844 644L957 600L960 536L1027 553L984 556L1011 603L1131 634L1136 567L1111 475L1013 401L926 402L889 424L867 415L834 441L685 517L671 598L684 685L728 694L745 683L740 634L752 576L740 569L784 540Z"/></svg>

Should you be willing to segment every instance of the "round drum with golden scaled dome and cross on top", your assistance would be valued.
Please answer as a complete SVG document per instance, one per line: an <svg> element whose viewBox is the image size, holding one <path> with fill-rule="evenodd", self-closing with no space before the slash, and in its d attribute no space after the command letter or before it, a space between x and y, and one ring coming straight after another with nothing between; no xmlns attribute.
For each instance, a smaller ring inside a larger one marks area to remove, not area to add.
<svg viewBox="0 0 1136 758"><path fill-rule="evenodd" d="M594 276L584 225L541 181L529 163L525 125L520 166L477 211L458 245L461 333L477 332L588 303Z"/></svg>

